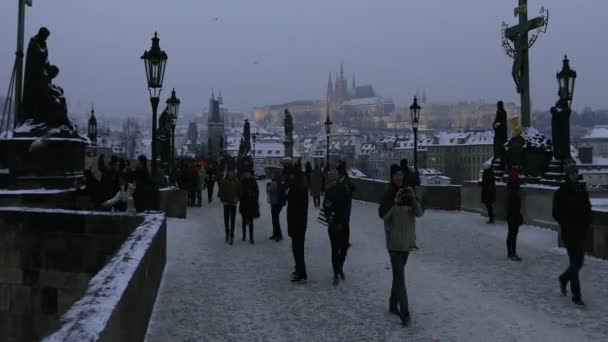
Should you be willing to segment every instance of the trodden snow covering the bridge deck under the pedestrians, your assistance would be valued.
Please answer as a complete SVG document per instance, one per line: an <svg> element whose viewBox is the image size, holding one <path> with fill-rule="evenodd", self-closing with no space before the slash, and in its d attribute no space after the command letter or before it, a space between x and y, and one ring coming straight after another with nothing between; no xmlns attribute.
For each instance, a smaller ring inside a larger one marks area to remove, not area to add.
<svg viewBox="0 0 608 342"><path fill-rule="evenodd" d="M263 189L263 187L261 187ZM264 196L262 196L264 197ZM261 198L256 244L224 243L217 199L169 220L167 267L147 341L607 341L608 262L587 258L587 307L559 293L567 256L555 232L522 227L522 263L506 259L505 224L427 211L406 282L412 326L387 313L391 271L377 206L355 201L346 281L331 285L327 231L309 212L308 284L289 282L289 239L276 243ZM285 233L285 211L282 212Z"/></svg>

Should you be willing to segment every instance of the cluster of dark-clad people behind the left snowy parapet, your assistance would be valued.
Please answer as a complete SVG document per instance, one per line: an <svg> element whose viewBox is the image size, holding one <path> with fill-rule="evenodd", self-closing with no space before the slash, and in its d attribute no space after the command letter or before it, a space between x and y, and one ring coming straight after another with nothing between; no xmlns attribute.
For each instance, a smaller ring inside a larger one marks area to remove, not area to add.
<svg viewBox="0 0 608 342"><path fill-rule="evenodd" d="M83 184L77 185L90 199L93 208L118 212L156 209L146 156L139 156L137 165L132 168L128 160L111 156L106 162L105 157L101 155L97 168L100 179L97 179L91 170L85 170Z"/></svg>

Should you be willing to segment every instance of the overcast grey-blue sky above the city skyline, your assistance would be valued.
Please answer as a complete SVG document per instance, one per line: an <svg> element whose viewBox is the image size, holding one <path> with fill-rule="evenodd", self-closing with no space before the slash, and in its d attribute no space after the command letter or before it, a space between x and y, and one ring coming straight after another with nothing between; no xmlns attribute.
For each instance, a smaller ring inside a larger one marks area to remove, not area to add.
<svg viewBox="0 0 608 342"><path fill-rule="evenodd" d="M564 53L579 74L575 106L608 107L607 0L530 0L550 10L549 31L531 53L532 105L556 97ZM516 0L34 0L26 45L51 30L49 59L61 68L72 112L148 113L143 63L155 30L168 53L163 97L200 111L211 88L232 109L324 95L340 62L359 84L399 104L417 88L432 101L515 101L501 22ZM0 2L0 92L13 64L17 0ZM218 18L215 20L214 18ZM254 64L257 61L258 64ZM80 106L78 104L80 103Z"/></svg>

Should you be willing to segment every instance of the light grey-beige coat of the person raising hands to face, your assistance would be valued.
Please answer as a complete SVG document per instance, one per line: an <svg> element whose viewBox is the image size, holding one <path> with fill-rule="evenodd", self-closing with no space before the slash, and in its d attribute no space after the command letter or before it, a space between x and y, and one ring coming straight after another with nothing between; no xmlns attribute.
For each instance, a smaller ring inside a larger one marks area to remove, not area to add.
<svg viewBox="0 0 608 342"><path fill-rule="evenodd" d="M399 189L393 184L385 192L378 213L384 221L386 248L389 252L409 252L416 246L416 217L423 215L418 199L395 204Z"/></svg>

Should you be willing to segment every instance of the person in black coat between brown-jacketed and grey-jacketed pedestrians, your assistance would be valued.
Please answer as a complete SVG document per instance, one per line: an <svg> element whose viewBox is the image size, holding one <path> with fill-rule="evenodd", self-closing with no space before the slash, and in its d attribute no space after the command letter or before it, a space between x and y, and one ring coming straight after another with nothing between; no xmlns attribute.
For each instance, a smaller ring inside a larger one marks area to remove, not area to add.
<svg viewBox="0 0 608 342"><path fill-rule="evenodd" d="M249 243L252 245L254 244L253 220L260 217L259 197L258 182L250 170L245 170L241 176L239 211L242 219L243 241L247 239L247 226L249 226Z"/></svg>

